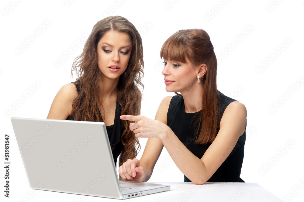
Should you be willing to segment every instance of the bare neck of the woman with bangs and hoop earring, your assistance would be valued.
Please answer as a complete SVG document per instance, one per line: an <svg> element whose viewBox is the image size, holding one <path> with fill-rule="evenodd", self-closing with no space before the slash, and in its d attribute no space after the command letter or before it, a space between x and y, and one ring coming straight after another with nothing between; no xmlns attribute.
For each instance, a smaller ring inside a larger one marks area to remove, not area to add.
<svg viewBox="0 0 304 202"><path fill-rule="evenodd" d="M198 85L193 90L181 93L184 98L186 113L195 113L202 110L202 91L203 86Z"/></svg>

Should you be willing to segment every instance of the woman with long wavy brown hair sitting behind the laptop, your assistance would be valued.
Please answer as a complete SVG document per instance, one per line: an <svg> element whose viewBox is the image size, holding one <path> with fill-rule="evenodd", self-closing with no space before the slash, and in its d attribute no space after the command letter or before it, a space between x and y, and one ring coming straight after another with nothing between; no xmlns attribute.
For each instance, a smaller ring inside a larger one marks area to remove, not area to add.
<svg viewBox="0 0 304 202"><path fill-rule="evenodd" d="M93 27L72 66L78 78L57 93L49 119L104 122L115 161L133 159L140 147L121 114L140 115L143 46L134 25L121 16Z"/></svg>

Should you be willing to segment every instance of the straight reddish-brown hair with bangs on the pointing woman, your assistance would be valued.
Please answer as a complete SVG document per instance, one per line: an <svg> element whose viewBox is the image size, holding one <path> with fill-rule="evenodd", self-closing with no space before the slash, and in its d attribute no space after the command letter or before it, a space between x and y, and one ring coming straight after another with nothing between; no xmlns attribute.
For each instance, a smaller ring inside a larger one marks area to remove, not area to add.
<svg viewBox="0 0 304 202"><path fill-rule="evenodd" d="M193 67L206 64L207 71L200 78L203 85L202 110L195 143L212 143L219 132L219 91L216 86L217 61L209 35L202 29L179 30L164 42L160 55L165 60L182 63L188 59Z"/></svg>

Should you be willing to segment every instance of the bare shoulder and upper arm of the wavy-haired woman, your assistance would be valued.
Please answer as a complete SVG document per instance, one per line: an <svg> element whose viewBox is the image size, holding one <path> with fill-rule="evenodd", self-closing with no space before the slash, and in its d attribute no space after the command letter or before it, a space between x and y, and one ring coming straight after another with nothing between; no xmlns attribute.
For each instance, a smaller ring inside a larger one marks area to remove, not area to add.
<svg viewBox="0 0 304 202"><path fill-rule="evenodd" d="M71 114L72 104L77 95L75 84L69 83L62 86L52 102L47 118L66 119Z"/></svg>

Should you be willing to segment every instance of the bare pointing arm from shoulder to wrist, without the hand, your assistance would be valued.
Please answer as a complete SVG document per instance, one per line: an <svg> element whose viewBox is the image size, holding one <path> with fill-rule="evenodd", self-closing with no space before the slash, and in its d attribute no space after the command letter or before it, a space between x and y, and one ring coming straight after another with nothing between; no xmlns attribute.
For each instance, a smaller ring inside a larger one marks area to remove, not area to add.
<svg viewBox="0 0 304 202"><path fill-rule="evenodd" d="M219 133L201 159L190 152L178 137L168 130L161 141L174 163L194 184L205 183L226 160L226 152L231 151L244 133L247 111L240 102L232 102L226 108L220 122Z"/></svg>

